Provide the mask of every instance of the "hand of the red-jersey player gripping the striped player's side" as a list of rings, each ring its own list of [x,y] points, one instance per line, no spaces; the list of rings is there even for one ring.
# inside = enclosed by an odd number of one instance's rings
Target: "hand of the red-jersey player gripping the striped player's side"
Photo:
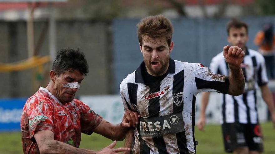
[[[123,127],[135,127],[138,124],[139,117],[140,115],[137,112],[128,110],[124,113],[121,124]]]

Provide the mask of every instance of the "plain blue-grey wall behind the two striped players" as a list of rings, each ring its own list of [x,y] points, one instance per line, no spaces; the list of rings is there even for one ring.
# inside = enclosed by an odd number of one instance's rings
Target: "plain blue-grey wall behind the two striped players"
[[[275,21],[274,16],[243,18],[249,26],[247,46],[257,50],[254,37],[266,20]],[[230,19],[173,19],[172,41],[175,43],[171,57],[186,62],[200,62],[209,66],[212,57],[227,45],[226,25]],[[136,24],[140,19],[116,19],[113,24],[114,40],[114,91],[127,74],[142,62]]]

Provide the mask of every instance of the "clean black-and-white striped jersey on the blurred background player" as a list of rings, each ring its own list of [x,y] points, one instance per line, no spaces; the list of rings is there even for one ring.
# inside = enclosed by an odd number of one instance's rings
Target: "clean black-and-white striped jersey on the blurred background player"
[[[222,95],[221,124],[257,124],[256,89],[267,84],[267,73],[263,56],[252,49],[245,52],[241,64],[245,77],[245,93],[240,96]],[[228,65],[222,52],[212,58],[209,69],[218,74],[228,75]]]

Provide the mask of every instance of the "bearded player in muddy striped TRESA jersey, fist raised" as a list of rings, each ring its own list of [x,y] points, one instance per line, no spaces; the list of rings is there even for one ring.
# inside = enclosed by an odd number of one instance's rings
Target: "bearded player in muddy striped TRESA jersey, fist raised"
[[[170,58],[174,47],[172,34],[171,22],[162,15],[148,16],[138,23],[144,61],[120,84],[125,110],[141,115],[138,125],[128,131],[125,139],[125,146],[132,146],[133,154],[194,154],[196,95],[201,91],[218,91],[237,96],[244,91],[241,48],[223,48],[231,73],[221,76],[201,63]]]

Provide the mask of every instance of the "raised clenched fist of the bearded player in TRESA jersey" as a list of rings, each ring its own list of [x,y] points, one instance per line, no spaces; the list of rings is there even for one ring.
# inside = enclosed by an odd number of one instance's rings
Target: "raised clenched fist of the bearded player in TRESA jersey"
[[[227,45],[223,47],[223,57],[230,68],[240,68],[244,52],[237,46],[229,47],[229,45]]]

